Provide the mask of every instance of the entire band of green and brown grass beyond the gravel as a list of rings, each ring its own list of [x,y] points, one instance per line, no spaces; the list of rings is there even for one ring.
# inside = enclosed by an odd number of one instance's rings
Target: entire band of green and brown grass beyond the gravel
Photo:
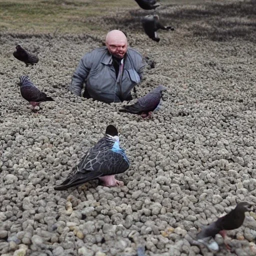
[[[187,35],[255,41],[256,0],[161,0],[163,24]],[[0,0],[0,32],[98,34],[142,32],[142,10],[134,0]]]

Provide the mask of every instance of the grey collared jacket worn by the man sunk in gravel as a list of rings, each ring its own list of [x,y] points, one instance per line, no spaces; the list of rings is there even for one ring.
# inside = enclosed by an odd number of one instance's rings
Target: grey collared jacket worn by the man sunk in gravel
[[[85,81],[85,89],[93,99],[109,103],[129,98],[131,89],[140,82],[144,64],[141,55],[132,48],[125,55],[122,76],[118,79],[112,55],[105,46],[86,53],[73,73],[71,92],[80,96]]]

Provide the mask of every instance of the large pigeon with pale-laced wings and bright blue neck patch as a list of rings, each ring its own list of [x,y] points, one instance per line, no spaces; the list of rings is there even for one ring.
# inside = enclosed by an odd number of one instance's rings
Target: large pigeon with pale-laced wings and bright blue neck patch
[[[123,182],[114,176],[128,167],[129,160],[124,149],[119,146],[117,129],[110,124],[106,127],[104,137],[88,149],[66,179],[54,189],[64,190],[95,178],[99,178],[104,186],[122,186]]]

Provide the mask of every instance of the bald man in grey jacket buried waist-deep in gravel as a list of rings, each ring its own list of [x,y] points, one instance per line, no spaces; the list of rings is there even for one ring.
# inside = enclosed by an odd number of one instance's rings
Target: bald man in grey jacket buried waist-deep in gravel
[[[86,53],[73,73],[70,91],[96,100],[122,102],[131,100],[132,88],[140,82],[143,61],[141,55],[128,47],[120,30],[106,35],[106,46]]]

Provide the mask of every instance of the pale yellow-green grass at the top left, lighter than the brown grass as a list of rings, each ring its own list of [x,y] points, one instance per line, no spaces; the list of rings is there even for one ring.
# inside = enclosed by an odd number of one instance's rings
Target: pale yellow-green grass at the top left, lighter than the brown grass
[[[203,0],[161,0],[162,4]],[[102,17],[140,9],[134,0],[0,0],[0,31],[84,33],[100,31]],[[147,12],[148,14],[148,12]]]

